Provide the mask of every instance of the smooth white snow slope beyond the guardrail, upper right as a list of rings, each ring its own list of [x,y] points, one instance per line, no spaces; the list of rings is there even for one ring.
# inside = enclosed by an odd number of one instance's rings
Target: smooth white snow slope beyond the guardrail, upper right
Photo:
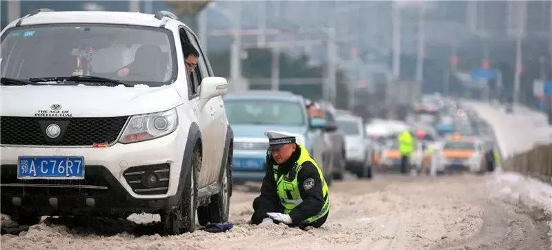
[[[504,158],[525,152],[535,143],[552,143],[552,127],[546,114],[517,105],[513,113],[506,114],[503,107],[487,103],[469,103],[481,118],[495,129],[497,142]]]

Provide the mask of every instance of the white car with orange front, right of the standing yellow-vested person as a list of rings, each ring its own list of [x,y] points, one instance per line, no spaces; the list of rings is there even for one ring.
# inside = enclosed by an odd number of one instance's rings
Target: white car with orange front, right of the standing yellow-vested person
[[[474,137],[455,134],[446,138],[441,149],[437,171],[485,171],[484,145]]]

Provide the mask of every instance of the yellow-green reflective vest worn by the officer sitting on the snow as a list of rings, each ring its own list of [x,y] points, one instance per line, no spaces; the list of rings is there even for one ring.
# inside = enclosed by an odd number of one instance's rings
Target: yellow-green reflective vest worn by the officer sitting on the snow
[[[288,214],[291,210],[295,209],[297,205],[303,202],[301,194],[299,193],[299,184],[297,184],[297,176],[299,175],[299,171],[301,171],[302,164],[306,161],[310,161],[313,165],[315,165],[318,175],[320,176],[320,180],[322,180],[322,196],[324,196],[324,205],[322,206],[322,210],[317,215],[307,218],[299,223],[294,222],[295,224],[309,224],[328,214],[330,211],[330,198],[328,195],[328,185],[326,184],[322,170],[318,167],[316,161],[311,157],[311,155],[308,154],[307,149],[303,145],[299,145],[298,149],[301,150],[301,154],[292,169],[290,169],[288,174],[282,174],[280,178],[278,178],[276,174],[277,169],[274,169],[274,179],[277,184],[280,204],[284,207],[284,213]]]

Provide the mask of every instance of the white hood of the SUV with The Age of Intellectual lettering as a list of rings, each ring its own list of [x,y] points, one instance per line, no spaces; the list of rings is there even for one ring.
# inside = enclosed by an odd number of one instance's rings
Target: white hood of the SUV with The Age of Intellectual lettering
[[[140,86],[140,85],[139,85]],[[172,86],[2,86],[2,116],[112,117],[170,110],[181,103]]]

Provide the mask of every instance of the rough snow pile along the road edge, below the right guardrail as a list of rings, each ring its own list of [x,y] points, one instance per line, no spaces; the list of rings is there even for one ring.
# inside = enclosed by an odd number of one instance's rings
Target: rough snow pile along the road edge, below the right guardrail
[[[549,225],[552,241],[552,185],[515,172],[496,171],[486,183],[492,198],[500,198],[513,205],[542,209]]]

